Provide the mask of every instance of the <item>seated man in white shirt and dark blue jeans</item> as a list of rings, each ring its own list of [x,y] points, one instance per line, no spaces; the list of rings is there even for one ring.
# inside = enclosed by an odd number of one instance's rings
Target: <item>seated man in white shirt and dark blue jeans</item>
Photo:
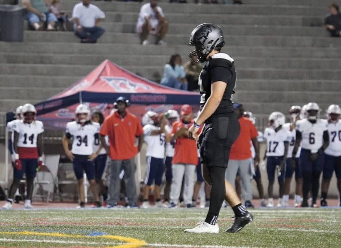
[[[96,43],[105,30],[98,24],[105,18],[105,14],[99,7],[83,0],[73,7],[72,18],[75,22],[75,34],[81,43]]]

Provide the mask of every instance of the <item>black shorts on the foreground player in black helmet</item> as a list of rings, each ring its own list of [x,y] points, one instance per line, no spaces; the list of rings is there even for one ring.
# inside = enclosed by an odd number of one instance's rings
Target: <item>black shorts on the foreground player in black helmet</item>
[[[227,168],[231,146],[239,136],[239,121],[235,114],[211,120],[203,130],[204,137],[200,146],[201,163],[205,163],[207,167]]]

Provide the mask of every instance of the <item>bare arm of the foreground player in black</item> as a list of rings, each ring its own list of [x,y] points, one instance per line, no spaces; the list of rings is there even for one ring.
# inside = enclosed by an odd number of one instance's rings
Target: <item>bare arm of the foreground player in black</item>
[[[214,111],[216,111],[223,98],[226,86],[227,83],[223,81],[217,81],[211,84],[211,95],[207,99],[203,110],[196,119],[196,123],[198,125],[203,124],[214,113]]]

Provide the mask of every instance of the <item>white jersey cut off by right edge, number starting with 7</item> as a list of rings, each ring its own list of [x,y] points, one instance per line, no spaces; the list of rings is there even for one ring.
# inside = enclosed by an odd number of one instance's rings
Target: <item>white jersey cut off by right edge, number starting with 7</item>
[[[337,123],[328,123],[329,146],[325,149],[325,154],[329,156],[341,156],[341,120]]]

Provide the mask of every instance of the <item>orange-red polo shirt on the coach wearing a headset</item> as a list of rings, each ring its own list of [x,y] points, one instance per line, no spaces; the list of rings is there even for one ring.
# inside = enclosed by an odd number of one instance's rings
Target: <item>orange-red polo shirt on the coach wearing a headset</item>
[[[99,133],[109,138],[110,158],[124,160],[138,153],[135,137],[142,135],[143,129],[137,117],[126,110],[124,118],[117,111],[108,116]]]

